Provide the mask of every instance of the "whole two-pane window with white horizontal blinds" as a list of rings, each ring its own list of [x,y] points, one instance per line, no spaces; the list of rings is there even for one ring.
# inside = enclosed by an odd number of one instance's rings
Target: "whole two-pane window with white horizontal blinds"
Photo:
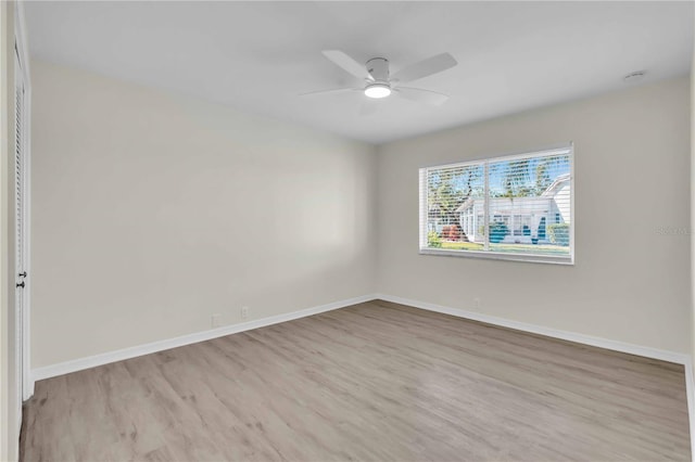
[[[573,262],[571,145],[420,169],[420,253]]]

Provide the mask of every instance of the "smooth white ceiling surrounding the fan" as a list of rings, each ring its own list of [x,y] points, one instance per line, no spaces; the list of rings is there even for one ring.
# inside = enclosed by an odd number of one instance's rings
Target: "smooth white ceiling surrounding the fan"
[[[31,53],[374,143],[685,75],[692,2],[27,2]],[[392,73],[450,52],[412,86],[441,107],[389,98],[361,116],[358,85],[321,50]]]

